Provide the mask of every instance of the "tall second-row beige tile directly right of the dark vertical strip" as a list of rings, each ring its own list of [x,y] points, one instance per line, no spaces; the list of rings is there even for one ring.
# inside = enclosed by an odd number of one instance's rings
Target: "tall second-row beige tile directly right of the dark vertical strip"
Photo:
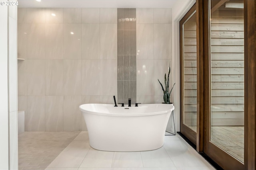
[[[154,59],[154,25],[137,23],[137,59]]]

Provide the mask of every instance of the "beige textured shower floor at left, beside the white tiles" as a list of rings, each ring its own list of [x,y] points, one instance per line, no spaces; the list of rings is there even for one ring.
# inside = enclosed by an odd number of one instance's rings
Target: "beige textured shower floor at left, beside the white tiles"
[[[44,170],[79,133],[80,131],[19,134],[19,170]]]

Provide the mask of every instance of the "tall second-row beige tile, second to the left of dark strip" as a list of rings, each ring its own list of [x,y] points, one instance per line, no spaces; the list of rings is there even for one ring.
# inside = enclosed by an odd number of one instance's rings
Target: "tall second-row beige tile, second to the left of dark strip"
[[[100,24],[82,24],[82,59],[100,58]]]

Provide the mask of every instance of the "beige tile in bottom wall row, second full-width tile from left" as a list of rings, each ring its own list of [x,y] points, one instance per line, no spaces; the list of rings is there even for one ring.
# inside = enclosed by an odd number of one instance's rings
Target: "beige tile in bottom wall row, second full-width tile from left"
[[[63,131],[63,96],[45,97],[46,131]]]

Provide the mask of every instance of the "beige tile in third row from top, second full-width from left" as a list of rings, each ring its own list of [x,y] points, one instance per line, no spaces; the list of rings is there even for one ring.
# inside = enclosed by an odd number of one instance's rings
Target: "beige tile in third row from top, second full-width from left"
[[[63,60],[46,60],[45,94],[63,94]]]

